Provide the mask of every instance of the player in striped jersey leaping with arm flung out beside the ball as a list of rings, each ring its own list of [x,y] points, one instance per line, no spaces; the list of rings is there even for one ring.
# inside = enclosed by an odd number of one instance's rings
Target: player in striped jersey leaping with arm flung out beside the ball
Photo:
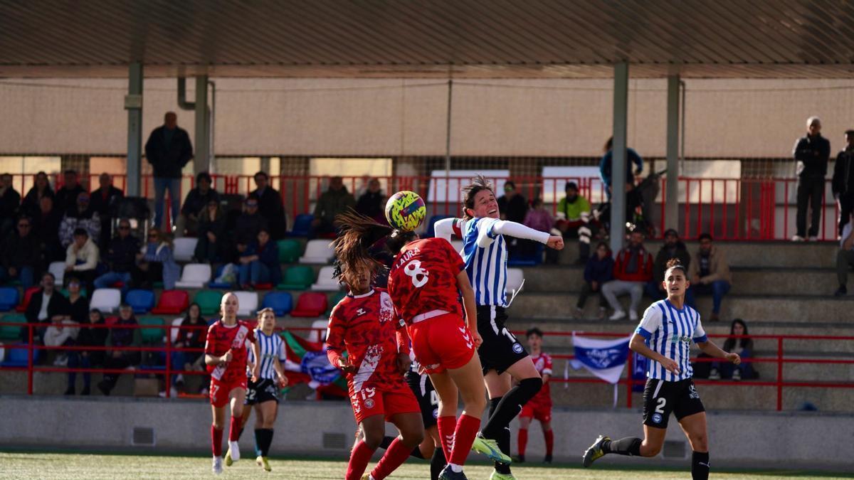
[[[507,244],[504,236],[564,248],[564,238],[535,231],[525,225],[500,220],[492,184],[478,175],[463,189],[463,218],[436,222],[436,237],[463,238],[465,272],[475,290],[478,348],[483,380],[489,394],[489,419],[481,436],[494,439],[503,454],[510,453],[510,422],[542,388],[542,379],[525,348],[504,326],[507,320]],[[512,380],[518,384],[511,388]],[[441,429],[440,429],[441,430]],[[476,444],[476,447],[478,445]],[[478,450],[480,451],[480,450]],[[510,465],[495,462],[494,480],[513,478]]]

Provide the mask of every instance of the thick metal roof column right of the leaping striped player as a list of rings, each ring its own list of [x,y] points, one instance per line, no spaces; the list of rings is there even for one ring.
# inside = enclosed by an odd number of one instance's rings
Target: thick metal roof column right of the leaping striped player
[[[623,248],[626,232],[626,131],[629,116],[629,64],[614,65],[614,143],[611,162],[611,251]]]

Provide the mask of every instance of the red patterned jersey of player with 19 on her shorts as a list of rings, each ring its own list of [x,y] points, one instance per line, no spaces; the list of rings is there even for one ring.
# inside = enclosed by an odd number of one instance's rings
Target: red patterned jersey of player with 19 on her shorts
[[[395,317],[395,307],[389,292],[373,289],[359,295],[345,296],[332,308],[326,331],[326,349],[333,365],[347,350],[355,373],[348,373],[350,395],[361,389],[399,389],[406,386],[403,374],[397,369],[399,339],[406,329]],[[402,336],[402,337],[399,337]],[[408,353],[408,348],[403,351]]]

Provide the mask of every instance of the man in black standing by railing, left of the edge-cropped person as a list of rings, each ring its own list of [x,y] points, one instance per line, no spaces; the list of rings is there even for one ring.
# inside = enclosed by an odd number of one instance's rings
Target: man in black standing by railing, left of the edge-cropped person
[[[807,204],[812,208],[810,241],[818,239],[819,224],[822,222],[822,200],[824,200],[824,177],[828,174],[830,142],[822,137],[822,120],[810,117],[806,120],[806,135],[798,138],[792,155],[796,161],[798,175],[798,214],[795,218],[797,232],[793,242],[803,242],[806,236]]]

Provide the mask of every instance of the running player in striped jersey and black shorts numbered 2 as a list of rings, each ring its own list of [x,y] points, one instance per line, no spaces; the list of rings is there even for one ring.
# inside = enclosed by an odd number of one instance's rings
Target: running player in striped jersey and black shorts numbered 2
[[[685,290],[689,286],[685,267],[679,260],[670,259],[664,272],[667,299],[646,308],[640,325],[629,342],[629,348],[652,360],[646,372],[643,392],[644,438],[626,437],[611,441],[599,436],[584,452],[583,465],[593,464],[605,454],[654,457],[664,445],[670,413],[685,432],[693,450],[691,477],[709,478],[709,444],[705,427],[705,408],[691,379],[691,342],[712,357],[741,363],[738,354],[728,354],[709,342],[699,313],[685,305]]]

